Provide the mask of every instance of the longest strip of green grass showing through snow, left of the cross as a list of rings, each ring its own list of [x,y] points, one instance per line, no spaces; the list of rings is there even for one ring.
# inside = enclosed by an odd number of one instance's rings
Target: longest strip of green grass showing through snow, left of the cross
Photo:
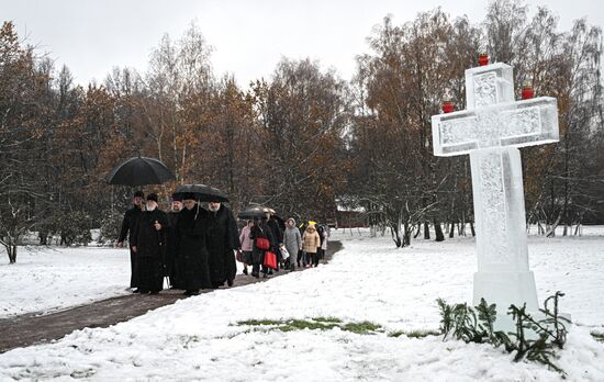
[[[317,317],[311,319],[248,319],[241,321],[237,325],[247,326],[268,326],[266,330],[280,330],[280,332],[293,332],[293,330],[331,330],[333,328],[340,328],[342,330],[351,332],[356,334],[371,334],[380,332],[381,326],[370,323],[343,323],[342,319],[336,317]]]

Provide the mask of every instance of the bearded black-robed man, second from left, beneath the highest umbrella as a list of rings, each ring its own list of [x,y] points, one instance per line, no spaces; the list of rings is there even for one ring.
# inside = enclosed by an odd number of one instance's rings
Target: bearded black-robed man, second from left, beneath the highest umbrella
[[[147,205],[134,228],[131,244],[136,257],[139,293],[159,293],[164,289],[168,215],[157,207],[157,194],[147,195]]]

